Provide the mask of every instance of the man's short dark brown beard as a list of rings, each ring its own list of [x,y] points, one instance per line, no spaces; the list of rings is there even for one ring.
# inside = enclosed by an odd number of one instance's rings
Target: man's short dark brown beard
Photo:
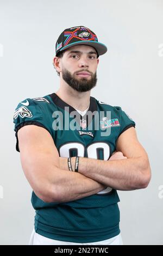
[[[62,70],[62,78],[71,88],[73,88],[74,90],[77,90],[77,92],[83,93],[91,90],[93,87],[96,86],[97,71],[95,72],[95,74],[91,74],[91,78],[85,78],[85,77],[75,78],[74,75],[71,75],[71,73],[64,68]]]

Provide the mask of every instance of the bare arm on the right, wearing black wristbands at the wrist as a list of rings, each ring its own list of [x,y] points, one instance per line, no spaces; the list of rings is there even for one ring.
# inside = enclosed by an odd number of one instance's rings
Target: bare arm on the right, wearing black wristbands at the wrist
[[[137,140],[134,127],[121,134],[116,142],[116,150],[126,159],[103,161],[80,157],[78,172],[117,190],[145,188],[151,179],[151,168],[147,153]],[[76,157],[72,157],[74,169]],[[68,170],[67,159],[60,157],[60,166]]]

